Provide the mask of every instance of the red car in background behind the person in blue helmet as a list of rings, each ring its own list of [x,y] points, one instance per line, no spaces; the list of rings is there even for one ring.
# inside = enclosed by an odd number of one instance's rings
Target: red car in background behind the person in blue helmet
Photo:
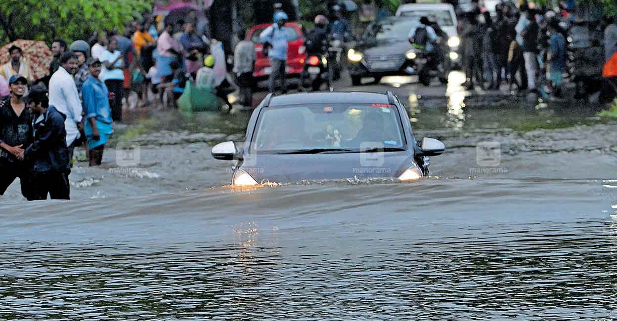
[[[251,41],[255,44],[255,53],[257,54],[257,59],[255,60],[255,71],[253,72],[253,76],[255,78],[267,78],[270,76],[272,71],[272,68],[270,67],[270,60],[262,54],[263,45],[259,39],[259,35],[261,35],[262,31],[271,25],[271,23],[266,23],[263,25],[253,26],[246,35],[246,39],[251,39]],[[299,76],[304,69],[304,60],[307,58],[302,29],[298,23],[288,22],[283,26],[283,30],[289,33],[289,39],[292,39],[289,41],[287,47],[287,75]]]

